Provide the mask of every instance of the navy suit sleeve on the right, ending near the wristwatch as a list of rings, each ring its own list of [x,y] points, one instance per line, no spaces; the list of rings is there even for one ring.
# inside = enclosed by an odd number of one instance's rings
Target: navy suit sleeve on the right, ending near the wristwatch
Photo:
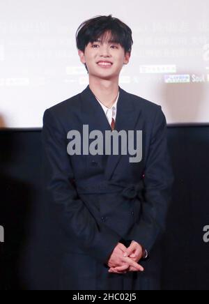
[[[150,252],[164,232],[174,181],[167,148],[167,121],[160,106],[155,114],[144,174],[141,217],[130,231],[129,238]]]

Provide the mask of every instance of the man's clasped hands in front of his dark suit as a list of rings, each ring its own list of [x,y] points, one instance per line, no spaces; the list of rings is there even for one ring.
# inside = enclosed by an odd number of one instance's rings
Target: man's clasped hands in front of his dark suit
[[[143,249],[137,242],[132,242],[128,248],[118,243],[109,258],[107,265],[109,273],[127,273],[127,271],[144,271],[138,264],[143,256]]]

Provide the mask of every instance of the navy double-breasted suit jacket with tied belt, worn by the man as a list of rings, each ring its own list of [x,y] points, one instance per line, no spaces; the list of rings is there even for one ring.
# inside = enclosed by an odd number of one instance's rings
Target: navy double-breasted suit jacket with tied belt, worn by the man
[[[65,235],[62,289],[158,288],[157,244],[173,185],[167,121],[159,105],[119,90],[115,130],[142,131],[140,162],[130,162],[129,153],[69,155],[70,130],[82,136],[84,125],[103,135],[111,130],[89,86],[43,116],[45,190]],[[131,240],[149,252],[142,262],[144,273],[108,273],[107,261],[117,243]]]

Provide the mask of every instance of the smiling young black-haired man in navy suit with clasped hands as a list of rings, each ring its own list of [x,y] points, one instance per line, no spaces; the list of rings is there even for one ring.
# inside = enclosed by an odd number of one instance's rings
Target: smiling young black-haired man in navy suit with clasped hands
[[[133,43],[126,24],[111,15],[94,17],[79,26],[76,38],[89,85],[47,109],[42,129],[47,191],[66,240],[61,289],[159,289],[160,240],[173,183],[167,121],[159,105],[118,86]],[[88,139],[84,127],[92,132]],[[130,161],[130,149],[107,153],[107,131],[114,141],[116,132],[124,139],[124,132],[139,130],[140,161]],[[102,153],[89,153],[97,131]]]

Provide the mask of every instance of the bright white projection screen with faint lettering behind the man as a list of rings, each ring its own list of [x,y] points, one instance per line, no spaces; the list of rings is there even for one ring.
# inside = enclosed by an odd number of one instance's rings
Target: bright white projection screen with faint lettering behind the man
[[[162,105],[167,123],[209,123],[208,0],[0,3],[0,127],[41,128],[45,109],[88,84],[78,26],[113,15],[133,32],[120,86]]]

